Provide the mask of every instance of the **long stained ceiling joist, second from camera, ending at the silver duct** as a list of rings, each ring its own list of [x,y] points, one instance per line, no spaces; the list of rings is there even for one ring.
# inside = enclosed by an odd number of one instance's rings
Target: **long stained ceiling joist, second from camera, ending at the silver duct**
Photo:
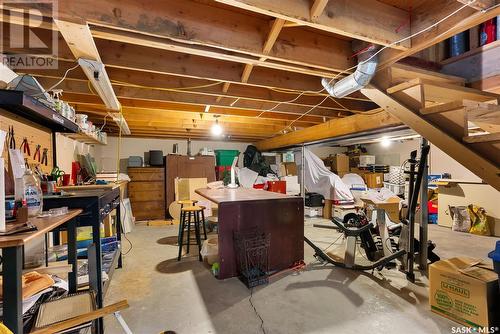
[[[126,33],[140,33],[136,41],[148,40],[149,35],[160,37],[167,44],[216,48],[254,59],[265,56],[303,67],[343,70],[350,67],[344,66],[346,62],[352,61],[348,59],[349,41],[306,30],[280,36],[277,47],[265,55],[262,32],[268,18],[199,1],[59,0],[58,11],[61,20],[122,30],[125,33],[115,38],[127,43],[130,41],[126,40]]]

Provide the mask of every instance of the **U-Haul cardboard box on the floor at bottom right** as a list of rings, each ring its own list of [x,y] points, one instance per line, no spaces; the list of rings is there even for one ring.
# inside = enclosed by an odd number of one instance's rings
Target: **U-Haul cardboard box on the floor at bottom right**
[[[498,275],[488,267],[491,264],[468,257],[433,263],[429,267],[432,312],[467,327],[498,326]]]

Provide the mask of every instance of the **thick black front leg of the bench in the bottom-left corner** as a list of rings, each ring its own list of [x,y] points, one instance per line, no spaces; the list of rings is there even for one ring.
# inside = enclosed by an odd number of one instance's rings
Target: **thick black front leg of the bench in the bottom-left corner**
[[[7,247],[3,258],[3,320],[13,333],[23,332],[23,310],[21,293],[22,247]]]

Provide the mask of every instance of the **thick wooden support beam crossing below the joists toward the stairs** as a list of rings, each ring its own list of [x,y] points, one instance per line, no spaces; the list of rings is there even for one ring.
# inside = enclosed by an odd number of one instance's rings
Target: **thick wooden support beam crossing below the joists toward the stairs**
[[[262,140],[257,142],[256,146],[261,151],[269,151],[399,124],[401,122],[397,118],[382,110],[372,115],[354,115],[331,120],[303,130]]]

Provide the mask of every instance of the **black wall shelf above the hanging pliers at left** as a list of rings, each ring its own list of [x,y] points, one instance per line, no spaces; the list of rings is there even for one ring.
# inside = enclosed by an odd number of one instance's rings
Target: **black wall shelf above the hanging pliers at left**
[[[19,90],[0,89],[0,107],[55,132],[78,132],[78,125]]]

